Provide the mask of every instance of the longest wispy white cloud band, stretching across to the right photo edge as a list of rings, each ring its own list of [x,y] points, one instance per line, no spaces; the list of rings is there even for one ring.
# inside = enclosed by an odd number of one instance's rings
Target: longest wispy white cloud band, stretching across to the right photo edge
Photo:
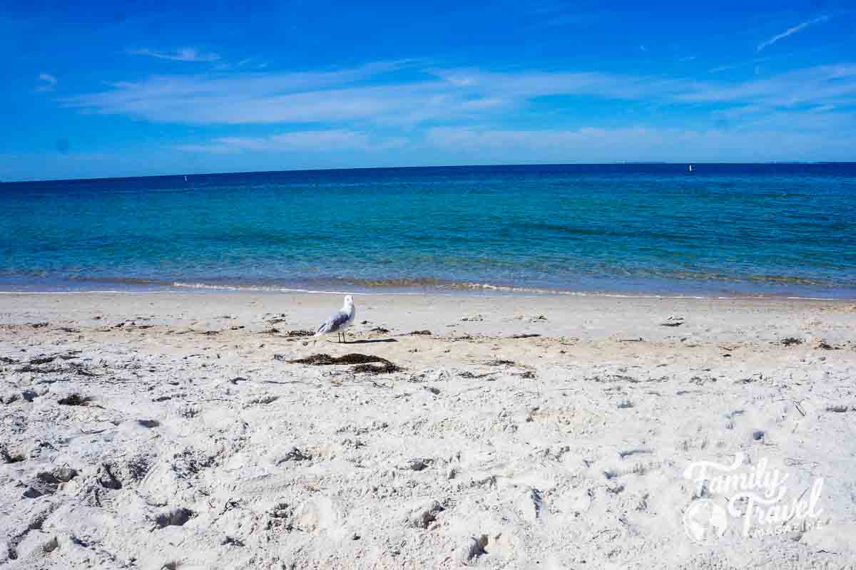
[[[376,62],[357,68],[156,75],[62,103],[86,113],[189,125],[303,124],[326,129],[503,120],[539,97],[782,109],[856,106],[856,63],[796,69],[746,81],[571,71],[496,72]],[[554,109],[573,113],[571,107]],[[235,146],[234,144],[232,145]]]

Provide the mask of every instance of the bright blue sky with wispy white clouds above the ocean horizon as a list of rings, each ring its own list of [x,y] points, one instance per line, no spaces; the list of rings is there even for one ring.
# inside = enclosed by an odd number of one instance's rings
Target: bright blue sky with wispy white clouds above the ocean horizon
[[[826,2],[0,0],[0,179],[854,161],[854,16]]]

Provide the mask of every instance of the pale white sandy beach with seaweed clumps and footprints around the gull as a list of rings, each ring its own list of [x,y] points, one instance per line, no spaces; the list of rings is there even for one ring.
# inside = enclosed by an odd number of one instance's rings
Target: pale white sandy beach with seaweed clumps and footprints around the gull
[[[354,298],[0,295],[0,567],[856,563],[853,301]]]

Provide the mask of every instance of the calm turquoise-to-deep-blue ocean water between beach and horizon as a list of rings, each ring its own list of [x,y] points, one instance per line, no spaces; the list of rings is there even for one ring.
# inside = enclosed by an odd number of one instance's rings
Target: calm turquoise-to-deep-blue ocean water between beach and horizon
[[[0,184],[0,291],[856,297],[856,164]]]

